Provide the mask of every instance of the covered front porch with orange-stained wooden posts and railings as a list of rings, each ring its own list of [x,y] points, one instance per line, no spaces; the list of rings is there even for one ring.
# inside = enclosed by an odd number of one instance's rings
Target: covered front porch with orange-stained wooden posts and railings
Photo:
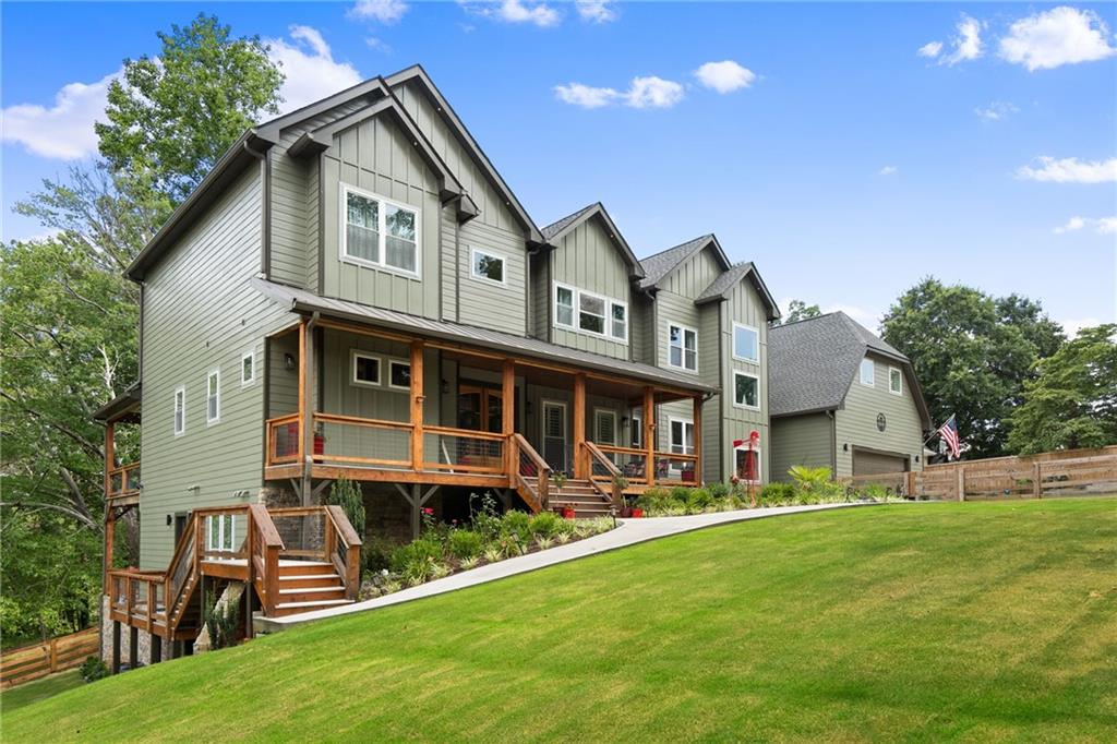
[[[627,361],[610,372],[605,357],[594,368],[529,351],[304,316],[269,340],[265,479],[306,504],[344,476],[394,484],[416,508],[433,488],[466,486],[515,492],[533,511],[567,479],[614,505],[698,484],[708,390]],[[658,411],[677,401],[693,426],[661,432]]]

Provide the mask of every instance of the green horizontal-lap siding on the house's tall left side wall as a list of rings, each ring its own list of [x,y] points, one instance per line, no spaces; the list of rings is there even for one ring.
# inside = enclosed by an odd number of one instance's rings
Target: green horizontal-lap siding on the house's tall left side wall
[[[174,527],[168,516],[244,504],[261,486],[262,338],[292,317],[249,285],[260,266],[260,169],[247,169],[145,278],[144,569],[162,569],[171,560]],[[256,382],[242,387],[247,351],[254,354]],[[220,419],[207,425],[207,378],[214,368],[220,369]],[[185,431],[175,436],[179,387],[185,388]]]

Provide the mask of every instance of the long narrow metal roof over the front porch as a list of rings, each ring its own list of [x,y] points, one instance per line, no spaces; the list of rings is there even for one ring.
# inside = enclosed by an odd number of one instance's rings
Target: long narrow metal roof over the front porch
[[[517,336],[512,333],[481,328],[464,323],[436,321],[384,307],[373,307],[363,303],[322,297],[306,289],[289,287],[267,279],[252,278],[251,284],[264,295],[297,313],[317,312],[328,317],[373,323],[384,328],[404,331],[431,338],[486,349],[497,349],[540,360],[584,366],[598,372],[659,382],[663,385],[690,392],[717,392],[717,388],[699,382],[693,374],[665,370],[651,364],[614,359],[569,346],[558,346],[557,344],[547,343],[546,341],[531,336]]]

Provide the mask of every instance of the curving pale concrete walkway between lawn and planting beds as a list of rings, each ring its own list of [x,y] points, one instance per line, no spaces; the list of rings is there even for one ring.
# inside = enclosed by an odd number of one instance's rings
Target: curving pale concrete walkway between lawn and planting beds
[[[515,576],[529,571],[537,571],[556,563],[575,561],[581,557],[614,551],[618,547],[636,545],[649,540],[658,540],[669,535],[677,535],[684,532],[693,532],[705,527],[714,527],[732,522],[745,522],[747,519],[761,519],[764,517],[782,516],[785,514],[802,514],[803,512],[822,512],[827,509],[849,508],[852,506],[869,506],[871,504],[818,504],[813,506],[773,506],[758,509],[738,509],[735,512],[718,512],[716,514],[695,514],[693,516],[677,517],[655,517],[649,519],[618,519],[617,528],[593,537],[579,540],[565,545],[550,547],[537,553],[528,553],[514,559],[506,559],[497,563],[488,563],[478,569],[462,571],[445,579],[436,579],[418,586],[403,589],[391,594],[378,597],[364,602],[355,602],[342,607],[316,610],[314,612],[303,612],[300,614],[284,618],[255,618],[255,626],[259,632],[277,632],[293,628],[304,622],[313,622],[325,618],[336,618],[342,614],[353,612],[367,612],[382,607],[411,602],[424,597],[435,597],[446,592],[466,589],[485,584],[498,579]]]

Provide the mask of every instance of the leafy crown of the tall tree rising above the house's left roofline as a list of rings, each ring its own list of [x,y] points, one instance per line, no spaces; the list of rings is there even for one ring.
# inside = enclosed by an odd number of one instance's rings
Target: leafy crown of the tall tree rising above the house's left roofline
[[[284,77],[259,37],[233,38],[213,16],[159,39],[157,59],[124,61],[108,88],[108,123],[96,131],[114,171],[150,174],[179,202],[261,114],[278,112]]]

